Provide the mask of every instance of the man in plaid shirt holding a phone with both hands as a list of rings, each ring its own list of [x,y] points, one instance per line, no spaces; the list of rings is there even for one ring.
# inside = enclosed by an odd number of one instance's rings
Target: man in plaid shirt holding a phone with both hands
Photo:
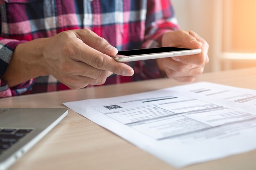
[[[207,42],[178,30],[169,0],[0,1],[0,97],[166,75],[190,82],[209,61]],[[202,53],[127,64],[110,57],[157,46]]]

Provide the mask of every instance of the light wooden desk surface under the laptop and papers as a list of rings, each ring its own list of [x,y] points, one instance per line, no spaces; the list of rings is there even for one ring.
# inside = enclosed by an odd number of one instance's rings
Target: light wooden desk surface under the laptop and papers
[[[256,68],[204,73],[195,82],[208,81],[256,89]],[[181,85],[155,79],[0,99],[0,107],[65,107],[64,102],[115,97]],[[256,150],[200,163],[182,170],[255,170]],[[175,168],[69,110],[69,114],[9,170],[174,170]]]

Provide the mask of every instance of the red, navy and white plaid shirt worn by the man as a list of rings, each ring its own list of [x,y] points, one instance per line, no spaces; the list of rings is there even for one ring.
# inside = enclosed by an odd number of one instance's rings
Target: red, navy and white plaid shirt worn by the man
[[[161,46],[162,35],[178,29],[170,0],[0,0],[0,15],[0,97],[68,89],[51,75],[9,88],[1,76],[20,43],[85,28],[128,50]],[[161,77],[155,60],[128,64],[132,77],[113,74],[105,84]]]

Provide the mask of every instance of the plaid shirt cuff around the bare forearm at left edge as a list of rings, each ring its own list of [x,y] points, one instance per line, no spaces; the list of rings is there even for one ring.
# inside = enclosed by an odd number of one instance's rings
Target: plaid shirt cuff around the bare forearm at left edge
[[[30,79],[27,82],[23,82],[22,84],[9,88],[8,84],[2,80],[2,75],[4,75],[7,70],[13,55],[13,51],[18,44],[24,42],[27,41],[0,38],[0,98],[11,97],[25,93],[31,88],[34,82],[33,79]]]

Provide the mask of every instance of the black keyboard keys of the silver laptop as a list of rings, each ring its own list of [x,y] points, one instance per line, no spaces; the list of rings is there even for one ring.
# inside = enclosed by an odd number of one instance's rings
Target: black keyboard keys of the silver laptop
[[[0,155],[33,129],[0,128]]]

